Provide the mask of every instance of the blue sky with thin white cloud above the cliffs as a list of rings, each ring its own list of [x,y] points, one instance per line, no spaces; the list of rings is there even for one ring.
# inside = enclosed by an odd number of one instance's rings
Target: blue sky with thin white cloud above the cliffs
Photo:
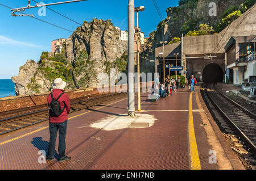
[[[37,2],[42,0],[35,0]],[[44,3],[64,2],[67,0],[44,0]],[[0,0],[0,3],[11,8],[26,7],[27,0]],[[166,9],[177,6],[178,0],[155,0],[158,8],[166,18]],[[31,0],[31,5],[35,2]],[[84,20],[90,22],[93,18],[111,19],[114,26],[127,30],[128,0],[88,0],[63,5],[48,6],[49,8],[82,24]],[[145,6],[139,12],[139,27],[145,37],[156,30],[161,21],[151,0],[134,0],[135,7]],[[56,24],[69,31],[75,31],[80,25],[46,9],[46,16],[39,16],[40,8],[27,9],[26,14],[34,14],[35,18]],[[136,17],[136,16],[135,16]],[[136,24],[136,20],[135,20]],[[19,67],[27,60],[40,60],[44,51],[51,52],[51,41],[68,38],[72,32],[40,22],[26,16],[11,16],[11,10],[0,5],[0,79],[10,79],[19,73]]]

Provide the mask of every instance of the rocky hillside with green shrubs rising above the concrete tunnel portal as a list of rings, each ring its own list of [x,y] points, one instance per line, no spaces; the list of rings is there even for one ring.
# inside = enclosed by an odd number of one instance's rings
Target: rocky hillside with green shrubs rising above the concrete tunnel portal
[[[147,49],[143,54],[147,54],[148,58],[155,57],[154,50],[159,47],[159,41],[171,41],[171,37],[167,30],[170,31],[172,37],[181,37],[181,33],[196,30],[200,24],[207,23],[213,26],[215,30],[220,16],[225,10],[232,6],[240,6],[245,0],[187,0],[181,1],[177,7],[169,7],[167,18],[160,22],[157,30],[150,34],[147,43]],[[216,4],[217,15],[210,16],[209,10],[213,7],[210,3]]]

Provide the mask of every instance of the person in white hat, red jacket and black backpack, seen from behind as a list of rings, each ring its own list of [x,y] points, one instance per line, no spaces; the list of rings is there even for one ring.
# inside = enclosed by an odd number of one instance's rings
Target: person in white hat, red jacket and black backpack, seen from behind
[[[52,87],[53,92],[48,95],[47,101],[49,106],[49,147],[48,155],[46,159],[48,161],[54,161],[55,153],[55,142],[57,137],[57,132],[59,130],[59,162],[64,162],[71,157],[65,155],[65,137],[67,133],[68,124],[68,113],[70,111],[70,101],[68,95],[64,92],[66,82],[61,78],[55,79]]]

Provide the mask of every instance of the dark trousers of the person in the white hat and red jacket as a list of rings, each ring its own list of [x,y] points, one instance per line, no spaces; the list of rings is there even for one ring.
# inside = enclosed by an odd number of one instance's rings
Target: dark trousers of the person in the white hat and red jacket
[[[55,142],[57,137],[57,132],[59,130],[59,155],[60,159],[63,159],[66,150],[65,138],[67,133],[67,125],[68,120],[65,120],[62,123],[49,123],[49,132],[50,132],[50,140],[49,140],[49,148],[48,148],[48,157],[53,158],[55,153]]]

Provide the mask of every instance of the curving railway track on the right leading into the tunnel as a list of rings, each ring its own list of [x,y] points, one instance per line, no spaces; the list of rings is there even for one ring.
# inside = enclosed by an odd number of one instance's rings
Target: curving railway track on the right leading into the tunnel
[[[246,169],[256,166],[256,115],[218,91],[214,84],[201,90],[209,111]]]

